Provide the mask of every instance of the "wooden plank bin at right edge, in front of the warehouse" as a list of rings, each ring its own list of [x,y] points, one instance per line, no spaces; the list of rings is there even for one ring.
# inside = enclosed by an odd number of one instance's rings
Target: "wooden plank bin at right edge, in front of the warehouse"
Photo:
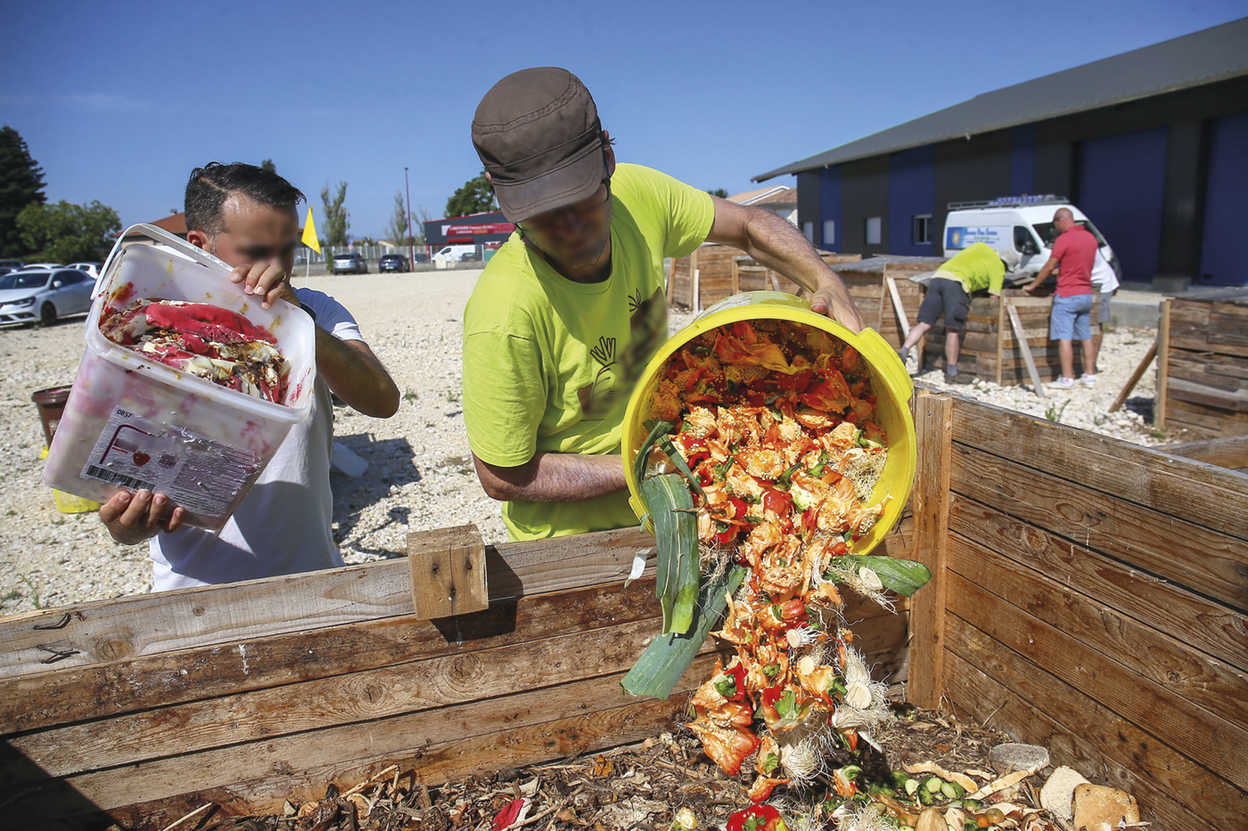
[[[1163,301],[1158,351],[1158,427],[1248,435],[1248,288]]]

